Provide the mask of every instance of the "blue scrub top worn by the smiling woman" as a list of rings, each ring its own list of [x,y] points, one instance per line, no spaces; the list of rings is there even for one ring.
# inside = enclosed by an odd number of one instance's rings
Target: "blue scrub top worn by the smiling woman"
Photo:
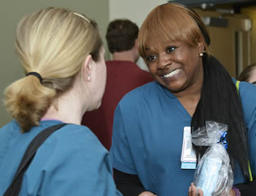
[[[256,87],[240,82],[249,134],[249,155],[256,174]],[[158,82],[129,92],[115,110],[110,154],[113,167],[139,176],[145,189],[160,195],[187,195],[195,170],[181,169],[184,127],[191,116],[176,96]],[[235,183],[244,182],[240,167]]]

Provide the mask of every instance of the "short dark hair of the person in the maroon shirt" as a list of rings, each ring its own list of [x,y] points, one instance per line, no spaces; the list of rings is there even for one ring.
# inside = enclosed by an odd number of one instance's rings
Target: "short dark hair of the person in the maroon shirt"
[[[107,28],[106,41],[111,53],[128,51],[134,46],[139,29],[131,20],[113,20]]]

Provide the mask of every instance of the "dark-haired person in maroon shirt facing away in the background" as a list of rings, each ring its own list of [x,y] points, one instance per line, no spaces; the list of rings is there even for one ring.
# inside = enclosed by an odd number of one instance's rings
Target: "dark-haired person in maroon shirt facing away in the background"
[[[108,25],[106,41],[113,60],[106,61],[106,91],[101,107],[83,116],[82,124],[91,128],[106,149],[110,149],[115,107],[119,100],[128,91],[153,80],[150,73],[136,65],[138,31],[131,20],[113,20]]]

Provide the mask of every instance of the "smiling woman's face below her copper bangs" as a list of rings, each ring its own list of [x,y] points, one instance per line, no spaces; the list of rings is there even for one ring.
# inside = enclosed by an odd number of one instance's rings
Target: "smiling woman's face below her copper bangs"
[[[143,57],[152,76],[178,96],[185,88],[202,84],[204,70],[199,54],[204,51],[204,45],[202,42],[197,47],[184,42],[169,44],[172,46],[159,46],[155,51],[148,47]]]

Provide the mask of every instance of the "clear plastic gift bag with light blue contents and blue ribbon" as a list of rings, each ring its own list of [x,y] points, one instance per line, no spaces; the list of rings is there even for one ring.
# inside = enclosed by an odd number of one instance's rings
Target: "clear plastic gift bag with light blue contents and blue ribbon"
[[[227,196],[234,181],[230,159],[222,144],[227,125],[213,121],[205,124],[191,135],[195,145],[210,146],[196,167],[193,182],[197,189],[203,190],[204,196]]]

